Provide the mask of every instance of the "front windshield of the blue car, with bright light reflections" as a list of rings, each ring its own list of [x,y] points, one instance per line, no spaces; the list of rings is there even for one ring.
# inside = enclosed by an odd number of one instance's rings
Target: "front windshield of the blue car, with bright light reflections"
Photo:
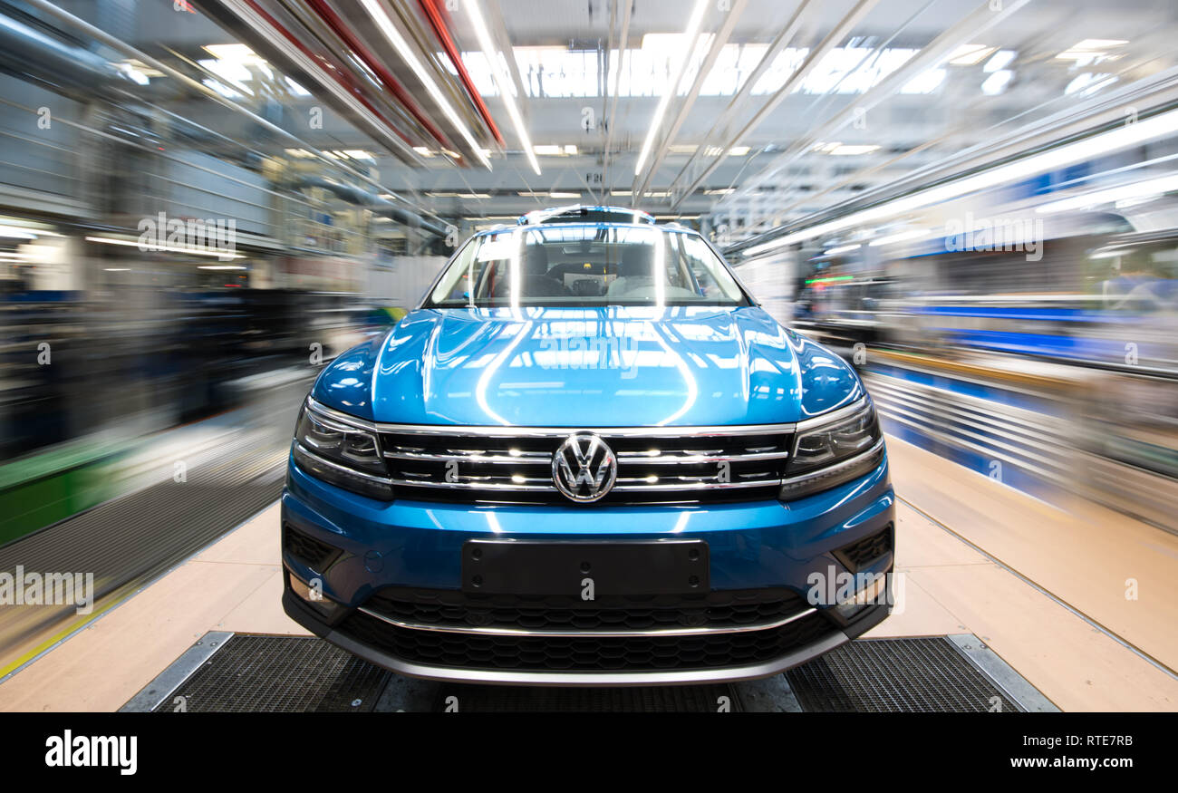
[[[749,305],[720,257],[686,230],[516,226],[472,238],[426,308]]]

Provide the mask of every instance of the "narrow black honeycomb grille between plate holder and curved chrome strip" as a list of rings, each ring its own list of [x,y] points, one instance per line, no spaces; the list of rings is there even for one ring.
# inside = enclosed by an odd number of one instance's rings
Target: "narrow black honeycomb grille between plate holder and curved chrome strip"
[[[457,589],[382,589],[364,608],[398,622],[521,630],[730,628],[794,616],[808,608],[793,589],[716,590],[694,596],[614,597],[475,595]]]

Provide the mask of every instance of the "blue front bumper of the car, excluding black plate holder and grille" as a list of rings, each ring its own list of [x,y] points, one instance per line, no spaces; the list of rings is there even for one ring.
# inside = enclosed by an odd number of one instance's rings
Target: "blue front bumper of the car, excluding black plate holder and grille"
[[[871,604],[848,620],[829,606],[807,608],[802,603],[805,614],[800,610],[786,620],[790,625],[772,629],[777,633],[719,628],[688,630],[684,633],[694,635],[683,636],[636,632],[633,639],[585,634],[600,636],[590,640],[545,630],[496,636],[476,628],[466,632],[451,627],[448,633],[438,634],[436,628],[424,625],[396,625],[369,608],[373,596],[399,588],[459,590],[463,543],[490,537],[702,538],[710,549],[713,593],[775,588],[796,596],[813,588],[814,575],[845,573],[887,574],[891,593],[891,546],[863,567],[855,567],[840,553],[894,527],[894,495],[886,460],[861,480],[789,504],[607,508],[377,502],[319,482],[291,462],[282,510],[284,537],[293,529],[304,538],[335,549],[330,559],[311,564],[304,559],[305,550],[292,549],[284,541],[286,613],[316,635],[359,657],[417,678],[529,686],[749,680],[822,655],[874,627],[889,612],[887,603]],[[302,582],[304,592],[313,581],[322,592],[322,603],[299,596],[291,589],[292,580]],[[537,650],[536,642],[552,646],[557,662],[549,665],[550,655]],[[637,654],[631,653],[635,642],[641,645]],[[736,649],[726,654],[728,645]],[[688,652],[676,655],[680,646]],[[517,647],[522,649],[517,652]],[[649,660],[647,649],[662,660]],[[507,662],[504,652],[510,655]],[[598,653],[611,663],[584,668],[585,653]],[[669,655],[675,657],[667,660]],[[693,666],[691,659],[704,656],[707,662]],[[640,657],[642,662],[630,665],[620,662],[620,657]],[[497,660],[482,663],[479,659]]]

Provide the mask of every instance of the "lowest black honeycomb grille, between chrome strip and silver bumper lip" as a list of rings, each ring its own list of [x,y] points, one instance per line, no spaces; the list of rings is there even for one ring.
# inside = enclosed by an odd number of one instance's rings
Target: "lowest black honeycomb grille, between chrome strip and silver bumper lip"
[[[694,636],[495,636],[399,628],[355,612],[337,630],[415,663],[470,669],[609,672],[763,663],[830,634],[821,614],[776,628]]]

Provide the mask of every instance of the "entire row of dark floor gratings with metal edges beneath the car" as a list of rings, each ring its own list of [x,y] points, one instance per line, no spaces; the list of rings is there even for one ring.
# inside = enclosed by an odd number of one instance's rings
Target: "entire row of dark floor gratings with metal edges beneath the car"
[[[230,713],[1055,709],[969,634],[861,639],[760,681],[565,688],[423,681],[386,672],[313,636],[210,633],[123,709],[166,712],[180,706],[190,712]]]

